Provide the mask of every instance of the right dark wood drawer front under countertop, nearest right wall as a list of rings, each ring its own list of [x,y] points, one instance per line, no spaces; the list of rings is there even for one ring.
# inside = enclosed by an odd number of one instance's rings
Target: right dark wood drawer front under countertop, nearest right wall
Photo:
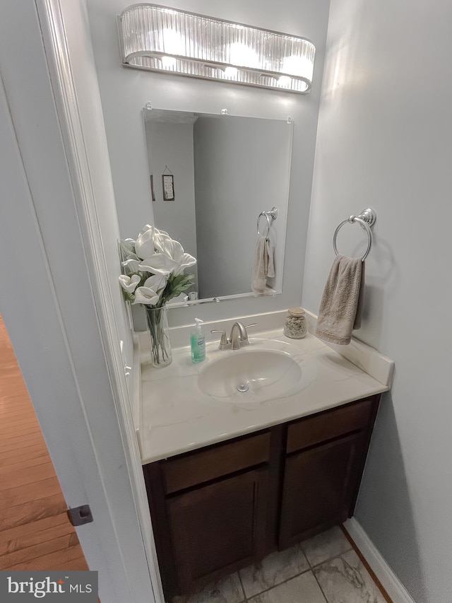
[[[367,398],[292,423],[287,430],[286,452],[301,450],[337,438],[339,435],[366,428],[371,420],[373,406],[374,398]]]

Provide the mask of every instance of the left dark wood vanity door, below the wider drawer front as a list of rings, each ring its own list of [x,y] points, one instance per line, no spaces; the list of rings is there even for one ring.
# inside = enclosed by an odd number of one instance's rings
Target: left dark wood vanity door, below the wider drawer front
[[[267,499],[266,468],[167,499],[180,592],[263,558]]]

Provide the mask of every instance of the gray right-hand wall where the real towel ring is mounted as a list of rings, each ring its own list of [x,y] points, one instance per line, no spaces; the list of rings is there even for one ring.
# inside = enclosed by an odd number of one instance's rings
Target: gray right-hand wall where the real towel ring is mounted
[[[451,602],[451,23],[443,0],[332,0],[303,296],[316,312],[335,227],[374,207],[357,334],[396,377],[356,516],[417,603]]]

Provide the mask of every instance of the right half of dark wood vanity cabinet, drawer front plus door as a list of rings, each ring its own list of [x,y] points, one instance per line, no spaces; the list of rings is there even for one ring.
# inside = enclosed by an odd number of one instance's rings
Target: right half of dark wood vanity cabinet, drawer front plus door
[[[352,515],[379,396],[287,426],[278,548]]]

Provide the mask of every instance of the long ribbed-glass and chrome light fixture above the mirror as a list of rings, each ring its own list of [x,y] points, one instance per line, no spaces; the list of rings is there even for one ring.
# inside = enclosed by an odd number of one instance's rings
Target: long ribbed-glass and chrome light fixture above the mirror
[[[307,93],[316,48],[303,37],[134,4],[118,17],[122,64],[136,69]]]

